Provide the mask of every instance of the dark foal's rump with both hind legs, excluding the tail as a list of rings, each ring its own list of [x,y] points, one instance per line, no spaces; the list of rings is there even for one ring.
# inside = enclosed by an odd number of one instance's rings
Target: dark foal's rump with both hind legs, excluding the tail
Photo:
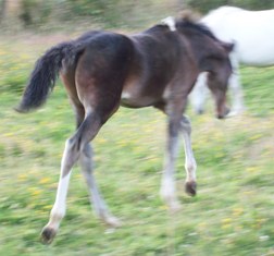
[[[77,131],[65,143],[55,203],[49,223],[42,231],[45,242],[53,239],[65,215],[71,169],[77,160],[86,179],[96,214],[110,225],[120,224],[119,220],[109,214],[97,187],[92,174],[92,149],[89,142],[120,106],[130,57],[132,45],[126,37],[103,34],[92,37],[76,66],[64,69],[61,73],[75,110]]]

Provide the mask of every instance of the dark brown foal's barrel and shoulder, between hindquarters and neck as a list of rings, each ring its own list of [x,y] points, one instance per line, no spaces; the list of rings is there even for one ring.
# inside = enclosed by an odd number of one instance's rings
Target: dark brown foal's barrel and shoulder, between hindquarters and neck
[[[157,106],[164,101],[164,92],[173,80],[185,73],[184,63],[190,68],[189,49],[183,38],[162,25],[129,38],[134,59],[124,85],[122,105]]]

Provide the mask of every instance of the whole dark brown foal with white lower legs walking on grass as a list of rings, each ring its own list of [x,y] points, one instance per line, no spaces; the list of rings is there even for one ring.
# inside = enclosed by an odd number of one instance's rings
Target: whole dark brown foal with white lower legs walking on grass
[[[167,115],[161,196],[172,209],[179,207],[174,181],[179,133],[185,141],[186,191],[196,194],[191,126],[183,115],[187,96],[198,74],[209,72],[216,115],[223,118],[226,114],[231,50],[232,45],[217,40],[207,27],[177,20],[134,36],[90,32],[51,48],[37,61],[17,110],[25,112],[41,106],[60,73],[77,121],[76,133],[65,144],[55,203],[49,223],[42,230],[45,242],[52,241],[65,215],[71,170],[76,161],[86,178],[96,214],[105,223],[119,225],[96,185],[89,142],[120,105],[129,108],[152,106]]]

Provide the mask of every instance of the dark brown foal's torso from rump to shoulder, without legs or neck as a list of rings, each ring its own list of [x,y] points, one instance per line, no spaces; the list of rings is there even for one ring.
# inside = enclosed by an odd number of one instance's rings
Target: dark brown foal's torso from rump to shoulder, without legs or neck
[[[121,96],[126,107],[159,106],[170,84],[194,65],[185,37],[164,25],[134,36],[91,32],[78,42],[85,50],[76,68],[77,94],[84,105],[95,102],[91,108],[120,102]]]

